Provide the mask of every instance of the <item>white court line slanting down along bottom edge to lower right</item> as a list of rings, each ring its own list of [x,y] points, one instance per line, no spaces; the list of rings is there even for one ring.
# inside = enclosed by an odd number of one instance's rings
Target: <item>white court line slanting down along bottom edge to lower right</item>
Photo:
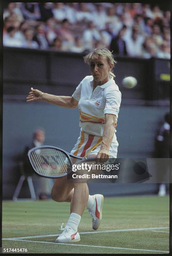
[[[14,240],[14,239],[13,239],[13,240]],[[50,243],[50,244],[56,244],[56,245],[58,245],[58,246],[59,246],[59,245],[69,245],[69,246],[84,246],[84,247],[120,249],[120,250],[130,250],[130,251],[152,251],[152,252],[169,253],[169,251],[157,251],[157,250],[136,249],[136,248],[121,248],[121,247],[110,247],[110,246],[93,246],[93,245],[73,244],[73,243],[53,243],[53,242],[32,241],[32,240],[23,240],[23,239],[16,239],[15,241],[23,241],[23,242],[30,242],[30,243]]]

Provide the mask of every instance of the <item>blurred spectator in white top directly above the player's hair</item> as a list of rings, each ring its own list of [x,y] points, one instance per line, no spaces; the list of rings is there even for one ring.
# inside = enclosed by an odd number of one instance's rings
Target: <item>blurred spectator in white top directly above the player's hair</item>
[[[101,40],[99,31],[96,29],[93,22],[89,22],[87,29],[83,32],[83,44],[85,49],[93,49],[95,42],[99,40]]]

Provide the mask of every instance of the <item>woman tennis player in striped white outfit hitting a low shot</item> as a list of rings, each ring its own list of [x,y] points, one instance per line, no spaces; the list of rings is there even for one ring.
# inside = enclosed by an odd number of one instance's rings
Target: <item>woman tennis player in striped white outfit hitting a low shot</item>
[[[84,56],[84,61],[89,64],[91,75],[83,78],[71,97],[31,88],[27,102],[41,100],[64,108],[78,107],[81,132],[71,154],[96,157],[97,161],[116,158],[119,144],[115,132],[121,104],[121,92],[112,72],[116,61],[106,47],[94,49]],[[71,214],[57,243],[80,241],[78,225],[85,207],[92,217],[93,229],[99,228],[104,197],[89,195],[86,183],[68,183],[67,176],[58,178],[51,195],[56,202],[71,202]]]

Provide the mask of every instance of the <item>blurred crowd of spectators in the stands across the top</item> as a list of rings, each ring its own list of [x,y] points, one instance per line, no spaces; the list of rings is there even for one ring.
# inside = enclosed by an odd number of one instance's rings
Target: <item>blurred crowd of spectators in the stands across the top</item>
[[[9,3],[3,45],[170,59],[170,11],[144,3]]]

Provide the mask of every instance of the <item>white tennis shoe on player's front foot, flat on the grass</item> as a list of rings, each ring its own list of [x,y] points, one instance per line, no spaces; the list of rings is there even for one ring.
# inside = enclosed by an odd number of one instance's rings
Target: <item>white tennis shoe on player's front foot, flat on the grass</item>
[[[78,231],[74,231],[70,227],[64,228],[63,232],[56,239],[56,243],[73,243],[80,241]]]

